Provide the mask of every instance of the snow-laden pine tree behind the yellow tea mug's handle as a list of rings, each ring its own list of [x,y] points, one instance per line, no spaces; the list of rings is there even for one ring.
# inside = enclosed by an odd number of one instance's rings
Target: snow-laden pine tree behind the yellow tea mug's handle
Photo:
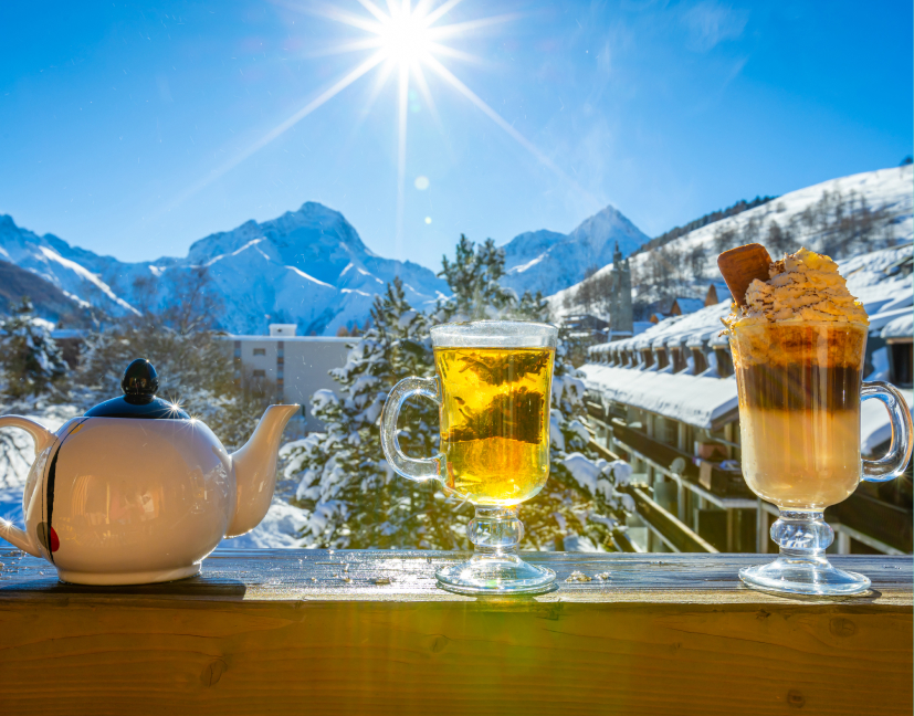
[[[286,475],[300,475],[296,504],[309,512],[306,545],[337,548],[438,548],[465,544],[458,506],[435,483],[416,484],[387,465],[379,420],[388,391],[407,376],[434,371],[430,322],[406,299],[395,278],[371,308],[371,326],[330,371],[339,396],[321,390],[312,412],[325,425],[287,451]],[[400,444],[413,455],[438,452],[433,403],[416,401],[400,414]]]

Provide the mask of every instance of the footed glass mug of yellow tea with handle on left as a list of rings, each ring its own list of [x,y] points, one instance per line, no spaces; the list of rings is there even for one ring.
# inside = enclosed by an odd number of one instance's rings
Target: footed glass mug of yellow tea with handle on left
[[[537,593],[555,572],[523,561],[524,526],[517,505],[549,477],[549,404],[558,331],[511,320],[444,324],[431,329],[434,378],[405,378],[388,396],[381,445],[403,477],[435,480],[470,501],[466,534],[475,554],[438,571],[442,587],[461,593]],[[440,406],[441,452],[407,457],[397,444],[397,419],[413,396]]]

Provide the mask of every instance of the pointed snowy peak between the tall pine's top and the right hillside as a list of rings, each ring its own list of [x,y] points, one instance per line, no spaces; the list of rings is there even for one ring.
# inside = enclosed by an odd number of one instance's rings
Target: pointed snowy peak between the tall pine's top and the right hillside
[[[503,282],[519,294],[543,292],[544,296],[581,280],[588,268],[612,261],[616,243],[622,255],[650,239],[614,207],[607,207],[581,222],[569,234],[528,231],[505,244],[506,276]]]

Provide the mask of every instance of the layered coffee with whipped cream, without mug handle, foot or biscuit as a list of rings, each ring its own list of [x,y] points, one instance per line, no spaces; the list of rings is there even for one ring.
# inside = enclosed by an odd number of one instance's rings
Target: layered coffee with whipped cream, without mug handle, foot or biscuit
[[[743,473],[753,492],[781,509],[820,512],[860,481],[866,314],[828,256],[800,250],[769,273],[725,322]]]

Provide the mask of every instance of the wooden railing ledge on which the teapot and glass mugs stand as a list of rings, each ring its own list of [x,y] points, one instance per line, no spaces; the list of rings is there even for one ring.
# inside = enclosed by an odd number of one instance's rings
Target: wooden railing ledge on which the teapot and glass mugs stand
[[[456,558],[220,551],[198,578],[99,588],[0,551],[0,708],[912,712],[910,557],[836,557],[874,587],[841,600],[745,589],[736,571],[759,556],[570,554],[528,556],[558,573],[551,593],[475,599],[434,587]],[[566,582],[572,571],[591,581]]]

